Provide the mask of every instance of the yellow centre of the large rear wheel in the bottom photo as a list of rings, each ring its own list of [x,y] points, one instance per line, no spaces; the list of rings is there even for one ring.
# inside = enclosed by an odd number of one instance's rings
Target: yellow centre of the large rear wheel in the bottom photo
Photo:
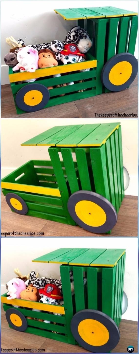
[[[108,329],[99,321],[86,319],[79,323],[80,337],[91,346],[103,346],[109,340]]]

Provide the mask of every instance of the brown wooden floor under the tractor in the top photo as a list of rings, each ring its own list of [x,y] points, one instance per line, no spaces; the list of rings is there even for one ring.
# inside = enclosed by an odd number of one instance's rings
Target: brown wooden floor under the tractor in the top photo
[[[45,108],[34,113],[18,115],[16,113],[10,84],[2,85],[1,118],[97,118],[95,113],[138,114],[137,95],[138,79],[136,77],[129,89],[123,90],[121,92],[104,93],[103,95],[84,98],[75,102],[69,102],[60,104],[58,106]],[[113,118],[116,118],[116,116],[113,116]]]

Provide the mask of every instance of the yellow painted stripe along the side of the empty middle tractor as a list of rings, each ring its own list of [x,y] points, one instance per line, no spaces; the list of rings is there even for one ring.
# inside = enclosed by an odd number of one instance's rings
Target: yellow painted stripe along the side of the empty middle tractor
[[[39,187],[39,186],[28,185],[28,184],[1,182],[1,188],[20,190],[22,192],[29,192],[29,193],[36,193],[36,194],[52,195],[57,197],[61,196],[59,189]]]

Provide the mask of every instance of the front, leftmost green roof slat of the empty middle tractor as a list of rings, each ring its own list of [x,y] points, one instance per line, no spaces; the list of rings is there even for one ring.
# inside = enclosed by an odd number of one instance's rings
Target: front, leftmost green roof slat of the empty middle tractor
[[[46,130],[45,132],[43,132],[39,135],[36,135],[34,138],[27,140],[25,143],[23,143],[21,145],[22,146],[24,146],[24,145],[37,145],[37,144],[41,143],[43,140],[45,140],[46,138],[49,138],[50,136],[54,135],[55,133],[59,132],[60,130],[62,130],[64,128],[65,128],[65,125],[50,128],[50,129]]]

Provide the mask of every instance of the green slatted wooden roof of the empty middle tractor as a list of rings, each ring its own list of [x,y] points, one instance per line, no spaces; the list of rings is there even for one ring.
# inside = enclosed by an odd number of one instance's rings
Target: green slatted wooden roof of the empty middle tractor
[[[101,146],[118,129],[120,123],[63,125],[31,138],[22,146],[91,147]]]

